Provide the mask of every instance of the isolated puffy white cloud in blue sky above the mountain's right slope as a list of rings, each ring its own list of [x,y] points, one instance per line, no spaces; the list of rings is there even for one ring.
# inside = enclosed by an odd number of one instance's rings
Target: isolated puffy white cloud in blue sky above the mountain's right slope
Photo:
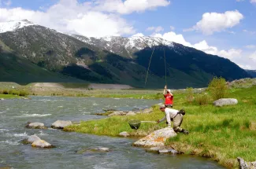
[[[225,31],[227,28],[236,26],[240,20],[243,20],[243,15],[237,10],[225,13],[204,13],[202,20],[184,31],[202,31],[204,35],[212,35],[214,32]]]

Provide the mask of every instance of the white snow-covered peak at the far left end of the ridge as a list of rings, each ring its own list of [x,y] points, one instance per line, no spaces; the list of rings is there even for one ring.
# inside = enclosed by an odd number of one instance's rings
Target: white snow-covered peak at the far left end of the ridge
[[[16,31],[17,29],[31,25],[34,24],[28,20],[0,22],[0,33],[4,33],[6,31]]]

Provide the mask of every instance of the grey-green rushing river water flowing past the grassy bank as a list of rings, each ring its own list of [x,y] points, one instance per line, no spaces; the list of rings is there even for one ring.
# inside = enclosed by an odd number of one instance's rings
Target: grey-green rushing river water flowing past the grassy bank
[[[32,97],[32,100],[0,101],[0,167],[13,168],[223,168],[217,163],[195,156],[158,155],[132,147],[134,139],[110,138],[91,134],[77,134],[62,130],[34,130],[24,126],[28,121],[46,126],[57,119],[79,121],[100,119],[91,113],[102,108],[132,110],[147,108],[159,101],[84,98]],[[32,148],[20,143],[29,135],[57,145],[55,149]],[[78,154],[77,150],[107,147],[110,152]]]

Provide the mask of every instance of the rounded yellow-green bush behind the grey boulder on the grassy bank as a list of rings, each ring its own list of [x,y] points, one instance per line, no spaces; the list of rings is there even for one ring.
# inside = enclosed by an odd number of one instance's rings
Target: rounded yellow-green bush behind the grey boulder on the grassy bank
[[[208,86],[208,91],[214,100],[224,98],[228,91],[228,86],[224,78],[214,77]]]

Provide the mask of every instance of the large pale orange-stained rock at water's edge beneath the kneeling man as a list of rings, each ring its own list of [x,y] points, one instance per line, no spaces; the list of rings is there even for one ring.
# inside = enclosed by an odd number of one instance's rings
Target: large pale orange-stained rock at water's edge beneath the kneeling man
[[[147,135],[145,138],[140,139],[133,143],[135,146],[143,146],[143,147],[157,147],[164,146],[165,141],[168,138],[173,138],[177,134],[171,127],[165,127],[160,130],[155,130],[153,133]]]

